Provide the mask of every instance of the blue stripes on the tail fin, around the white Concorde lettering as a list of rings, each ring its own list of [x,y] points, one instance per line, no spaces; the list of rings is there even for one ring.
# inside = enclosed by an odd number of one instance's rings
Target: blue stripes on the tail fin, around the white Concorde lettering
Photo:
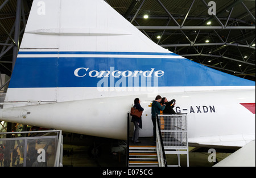
[[[89,52],[74,52],[86,53]],[[172,55],[172,53],[126,53],[126,52],[92,52],[97,54],[129,54],[129,55]],[[56,52],[19,52],[19,54],[56,54]],[[57,52],[57,54],[72,54],[72,52]],[[174,53],[173,53],[174,54]],[[175,54],[176,55],[176,54]],[[82,76],[76,77],[74,71],[80,67]],[[112,67],[112,68],[111,68]],[[164,71],[162,77],[158,77],[157,86],[255,86],[255,82],[234,77],[226,73],[200,65],[199,63],[180,58],[108,58],[108,57],[20,57],[17,58],[15,69],[11,77],[10,88],[36,88],[36,87],[97,87],[98,82],[106,78],[90,77],[89,71]],[[115,73],[118,74],[118,73]],[[154,76],[154,74],[152,75]],[[160,75],[159,75],[160,76]],[[139,77],[139,75],[137,76]],[[112,78],[113,79],[113,78]],[[147,78],[146,78],[147,79]],[[117,83],[120,78],[114,78]],[[139,80],[139,84],[133,86],[144,86]],[[106,81],[106,80],[105,80]],[[113,80],[112,80],[113,82]],[[108,87],[112,86],[110,77]],[[123,84],[123,82],[122,82]],[[131,86],[128,82],[120,87]],[[102,85],[103,86],[103,85]],[[154,78],[146,86],[155,86]]]

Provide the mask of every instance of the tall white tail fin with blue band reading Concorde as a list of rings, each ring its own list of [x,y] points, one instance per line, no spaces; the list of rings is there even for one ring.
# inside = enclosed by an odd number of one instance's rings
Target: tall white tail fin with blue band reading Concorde
[[[121,77],[132,80],[118,83]],[[135,84],[139,77],[147,83],[138,79]],[[104,0],[34,0],[6,101],[86,99],[96,96],[85,94],[84,88],[97,88],[99,83],[104,87],[255,86],[162,48]]]

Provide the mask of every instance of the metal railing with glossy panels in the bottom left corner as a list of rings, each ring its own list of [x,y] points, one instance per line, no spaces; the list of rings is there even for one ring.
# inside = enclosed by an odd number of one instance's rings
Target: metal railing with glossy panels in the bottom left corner
[[[0,133],[0,167],[59,167],[62,155],[61,130]]]

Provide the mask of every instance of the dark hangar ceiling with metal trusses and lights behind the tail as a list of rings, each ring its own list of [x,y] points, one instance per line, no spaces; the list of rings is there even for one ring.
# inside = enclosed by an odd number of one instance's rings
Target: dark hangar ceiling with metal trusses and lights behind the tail
[[[164,48],[255,81],[255,0],[105,1]],[[11,75],[31,4],[32,0],[0,0],[1,74]]]

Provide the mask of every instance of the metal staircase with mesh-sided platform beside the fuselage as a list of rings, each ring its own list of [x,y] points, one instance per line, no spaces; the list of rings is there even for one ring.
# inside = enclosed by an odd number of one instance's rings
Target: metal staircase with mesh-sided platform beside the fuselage
[[[156,117],[156,142],[140,138],[142,143],[129,142],[129,113],[127,120],[127,166],[180,166],[180,155],[188,157],[187,115],[158,115]],[[166,154],[176,154],[177,165],[167,165]]]

